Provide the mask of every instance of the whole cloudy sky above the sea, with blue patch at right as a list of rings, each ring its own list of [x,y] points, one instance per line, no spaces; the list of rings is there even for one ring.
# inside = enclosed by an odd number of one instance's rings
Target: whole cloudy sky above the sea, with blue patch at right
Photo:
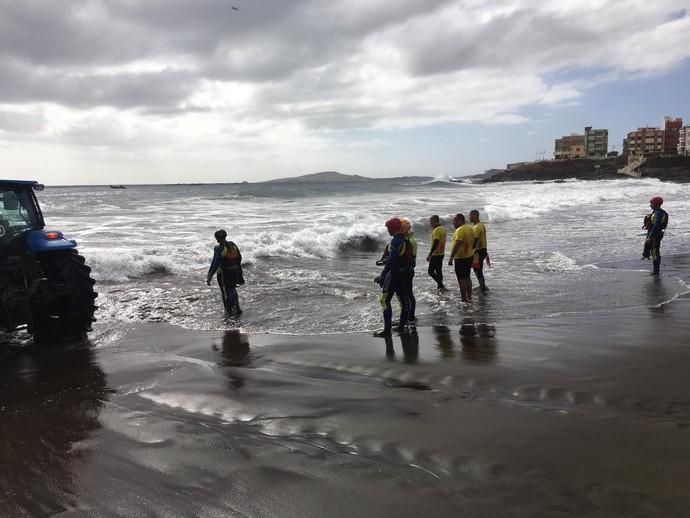
[[[0,0],[0,167],[462,175],[690,119],[690,0]]]

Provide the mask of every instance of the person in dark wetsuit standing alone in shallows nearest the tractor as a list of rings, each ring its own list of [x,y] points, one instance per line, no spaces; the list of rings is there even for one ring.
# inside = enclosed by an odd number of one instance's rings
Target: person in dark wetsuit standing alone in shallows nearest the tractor
[[[237,316],[242,314],[237,286],[244,284],[242,275],[242,254],[237,245],[228,241],[228,233],[218,230],[213,236],[218,245],[213,249],[213,261],[208,269],[206,284],[211,285],[211,279],[218,273],[218,286],[223,296],[225,312],[230,315],[234,311]]]

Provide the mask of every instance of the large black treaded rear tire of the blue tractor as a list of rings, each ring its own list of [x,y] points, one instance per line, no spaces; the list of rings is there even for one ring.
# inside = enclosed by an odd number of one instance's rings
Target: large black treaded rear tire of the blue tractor
[[[29,332],[41,344],[63,344],[84,340],[96,320],[95,299],[89,268],[76,250],[61,250],[38,256],[45,277],[50,281],[54,300],[47,309],[34,314]],[[54,289],[54,290],[53,290]]]

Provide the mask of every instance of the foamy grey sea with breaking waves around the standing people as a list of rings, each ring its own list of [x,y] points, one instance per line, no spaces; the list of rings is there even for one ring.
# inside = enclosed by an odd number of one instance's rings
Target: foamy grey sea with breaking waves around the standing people
[[[406,216],[419,240],[415,277],[420,325],[525,320],[654,306],[688,290],[673,275],[650,289],[640,259],[650,196],[666,200],[662,255],[690,244],[690,187],[652,179],[465,184],[265,183],[48,187],[47,226],[76,239],[99,292],[98,329],[166,322],[194,330],[240,328],[295,335],[371,332],[381,327],[374,264],[388,239],[384,221]],[[427,276],[428,217],[480,212],[486,223],[491,291],[472,305]],[[213,232],[242,251],[244,314],[226,319],[215,282],[206,286]],[[663,266],[662,266],[663,270]],[[476,279],[474,279],[476,288]]]

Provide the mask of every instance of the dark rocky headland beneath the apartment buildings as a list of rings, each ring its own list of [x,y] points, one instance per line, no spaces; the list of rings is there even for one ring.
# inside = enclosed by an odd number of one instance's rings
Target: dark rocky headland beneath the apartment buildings
[[[482,183],[533,180],[611,180],[631,178],[618,174],[627,161],[623,157],[606,160],[545,160],[479,177]],[[690,183],[690,157],[652,157],[641,167],[642,178],[659,178],[670,182]],[[632,178],[631,178],[632,179]]]

